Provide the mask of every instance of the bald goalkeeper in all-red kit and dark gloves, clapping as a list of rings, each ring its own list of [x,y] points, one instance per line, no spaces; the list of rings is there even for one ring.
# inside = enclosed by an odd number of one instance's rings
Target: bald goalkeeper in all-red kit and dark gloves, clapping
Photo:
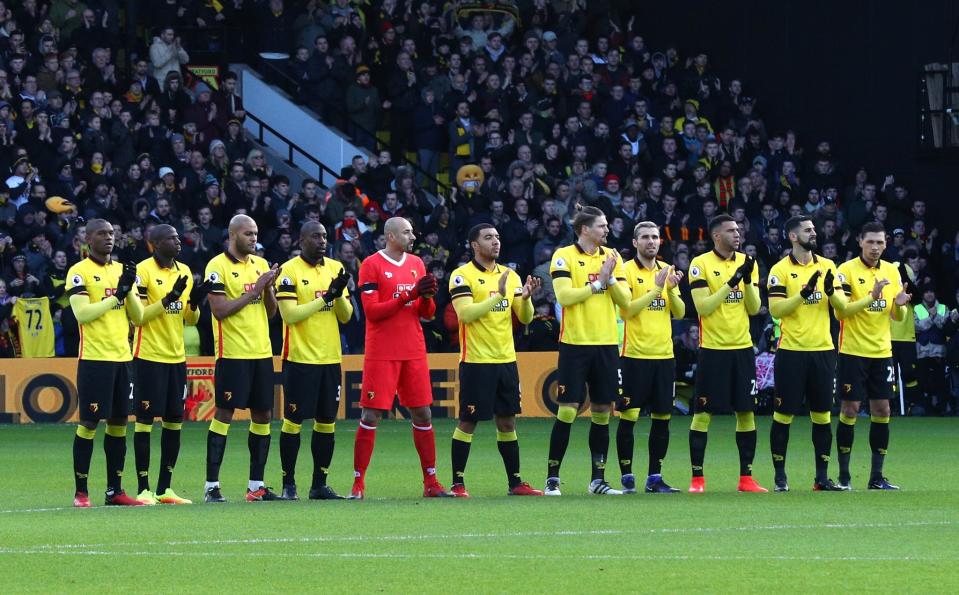
[[[393,217],[383,226],[383,233],[386,248],[360,266],[358,290],[366,313],[366,355],[350,498],[364,497],[376,426],[383,412],[393,408],[397,395],[412,418],[413,444],[423,468],[423,497],[448,497],[451,494],[436,479],[436,439],[430,413],[433,389],[420,326],[420,318],[431,319],[436,314],[436,278],[426,273],[419,257],[407,253],[415,239],[409,221]]]

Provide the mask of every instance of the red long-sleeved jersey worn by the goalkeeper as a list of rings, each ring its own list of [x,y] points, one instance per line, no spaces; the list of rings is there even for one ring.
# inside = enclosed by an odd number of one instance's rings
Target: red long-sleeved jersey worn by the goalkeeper
[[[366,315],[366,359],[407,360],[426,357],[420,318],[433,318],[432,299],[409,300],[416,282],[426,275],[418,256],[393,260],[382,250],[360,265],[358,290]]]

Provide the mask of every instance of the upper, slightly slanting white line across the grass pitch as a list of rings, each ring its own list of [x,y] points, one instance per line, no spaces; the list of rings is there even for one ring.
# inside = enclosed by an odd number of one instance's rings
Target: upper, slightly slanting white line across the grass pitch
[[[907,527],[945,527],[959,524],[959,521],[907,521],[902,523],[823,523],[819,525],[760,525],[742,527],[664,527],[640,530],[594,529],[589,531],[523,531],[517,533],[459,533],[446,535],[329,535],[316,537],[253,537],[249,539],[191,539],[157,542],[155,545],[164,547],[191,546],[191,545],[259,545],[282,543],[349,543],[370,541],[423,541],[444,539],[502,539],[505,537],[590,537],[605,535],[656,535],[656,534],[684,534],[684,533],[722,533],[729,531],[790,531],[790,530],[819,530],[819,529],[900,529]],[[90,548],[135,547],[142,546],[142,542],[127,543],[67,543],[67,544],[39,544],[25,546],[25,550],[63,551],[81,550]],[[10,548],[7,548],[9,550]],[[0,549],[0,553],[11,553]],[[878,559],[878,558],[877,558]]]

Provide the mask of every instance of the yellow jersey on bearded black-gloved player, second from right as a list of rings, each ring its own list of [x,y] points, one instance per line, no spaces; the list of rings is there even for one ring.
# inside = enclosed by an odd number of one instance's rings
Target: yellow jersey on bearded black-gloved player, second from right
[[[829,298],[824,293],[827,271],[832,271],[833,288],[842,291],[836,265],[828,258],[812,255],[808,264],[801,264],[790,254],[769,270],[766,286],[769,300],[791,298],[802,291],[809,278],[820,271],[816,291],[791,314],[780,321],[779,347],[792,351],[826,351],[833,349],[829,334]]]

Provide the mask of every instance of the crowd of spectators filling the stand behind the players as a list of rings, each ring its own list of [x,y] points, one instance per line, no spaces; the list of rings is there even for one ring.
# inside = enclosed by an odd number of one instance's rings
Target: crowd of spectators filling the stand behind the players
[[[457,323],[443,279],[469,259],[466,232],[477,223],[496,225],[501,262],[542,279],[533,322],[517,328],[518,347],[551,350],[559,324],[549,258],[572,242],[576,204],[606,214],[608,244],[624,258],[634,255],[635,224],[655,222],[660,256],[683,272],[711,248],[708,221],[728,213],[763,288],[789,248],[782,223],[807,214],[819,250],[837,263],[858,255],[863,224],[885,226],[884,258],[907,265],[913,285],[920,392],[912,404],[956,411],[959,381],[947,378],[947,367],[955,376],[959,235],[927,218],[927,197],[895,175],[841,163],[828,139],[766,122],[762,98],[727,74],[730,66],[720,78],[706,51],[649,47],[649,24],[616,5],[464,6],[155,0],[140,13],[149,38],[121,52],[115,2],[0,2],[3,354],[19,350],[16,300],[48,296],[56,353],[76,355],[64,286],[87,250],[78,218],[113,222],[123,261],[149,256],[152,225],[174,225],[180,259],[194,271],[222,251],[236,213],[256,220],[270,262],[294,255],[300,225],[316,220],[355,280],[359,263],[383,247],[383,222],[408,217],[416,253],[440,280],[438,315],[424,322],[427,347],[452,351]],[[355,157],[332,188],[314,180],[294,188],[274,175],[246,137],[236,75],[225,73],[212,89],[185,69],[192,51],[225,47],[224,28],[259,52],[288,55],[298,99],[368,148],[369,158]],[[195,47],[181,40],[187,29]],[[444,182],[468,163],[484,173],[479,191],[449,189]],[[76,209],[49,211],[54,196]],[[688,284],[681,291],[686,319],[695,320]],[[210,354],[208,310],[201,316],[189,349]],[[675,329],[678,353],[695,350],[687,326]],[[758,351],[775,348],[777,321],[765,307],[751,330]],[[908,332],[901,340],[911,340]],[[343,342],[348,353],[362,350],[361,307]],[[689,371],[680,366],[678,374]]]

